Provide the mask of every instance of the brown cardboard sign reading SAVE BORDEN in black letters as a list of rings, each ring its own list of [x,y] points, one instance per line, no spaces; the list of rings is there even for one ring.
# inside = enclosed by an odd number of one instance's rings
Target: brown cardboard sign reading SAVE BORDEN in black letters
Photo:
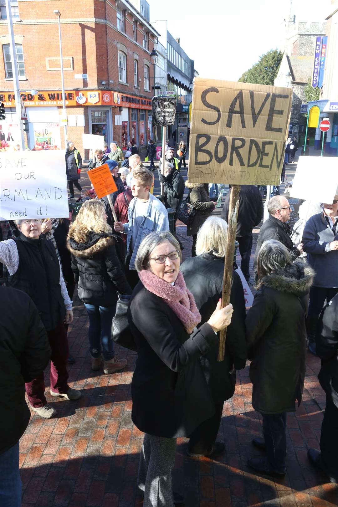
[[[195,78],[189,181],[279,184],[291,99],[290,88]]]

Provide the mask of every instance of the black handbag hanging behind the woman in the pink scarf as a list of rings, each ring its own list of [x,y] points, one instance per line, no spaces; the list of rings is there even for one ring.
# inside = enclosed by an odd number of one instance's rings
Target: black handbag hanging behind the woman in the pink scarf
[[[137,352],[134,337],[130,331],[127,310],[131,296],[125,296],[117,293],[118,301],[116,303],[115,317],[111,323],[111,339],[117,345],[122,345],[129,350]]]

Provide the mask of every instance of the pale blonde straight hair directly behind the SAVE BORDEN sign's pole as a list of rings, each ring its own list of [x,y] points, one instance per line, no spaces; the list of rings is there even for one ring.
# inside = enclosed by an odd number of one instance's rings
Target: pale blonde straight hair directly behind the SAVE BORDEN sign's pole
[[[216,257],[226,257],[228,224],[218,216],[209,216],[197,234],[196,255],[213,253]]]

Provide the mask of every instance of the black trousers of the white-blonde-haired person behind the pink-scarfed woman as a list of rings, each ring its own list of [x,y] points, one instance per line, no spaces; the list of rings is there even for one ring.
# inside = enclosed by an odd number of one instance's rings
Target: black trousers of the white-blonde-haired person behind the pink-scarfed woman
[[[210,454],[216,442],[222,418],[222,403],[215,403],[215,413],[210,419],[202,422],[190,435],[189,450],[195,454]]]

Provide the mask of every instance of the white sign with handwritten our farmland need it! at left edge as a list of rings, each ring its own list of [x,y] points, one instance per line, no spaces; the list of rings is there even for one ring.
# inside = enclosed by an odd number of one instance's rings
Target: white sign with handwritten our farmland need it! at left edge
[[[0,153],[0,220],[69,218],[64,153]]]

